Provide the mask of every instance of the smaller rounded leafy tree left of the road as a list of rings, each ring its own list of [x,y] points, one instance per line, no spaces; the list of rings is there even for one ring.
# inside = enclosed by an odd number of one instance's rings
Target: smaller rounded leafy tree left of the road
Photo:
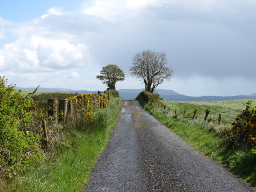
[[[117,65],[109,64],[102,67],[96,78],[106,83],[108,89],[116,89],[116,82],[124,80],[124,72]]]

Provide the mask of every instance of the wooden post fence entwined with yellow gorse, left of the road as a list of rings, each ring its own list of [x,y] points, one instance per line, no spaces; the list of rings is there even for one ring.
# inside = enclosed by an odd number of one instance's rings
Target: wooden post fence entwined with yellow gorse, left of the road
[[[54,138],[58,137],[60,133],[58,132],[59,123],[66,126],[67,123],[70,123],[68,119],[72,118],[73,113],[79,113],[79,110],[85,112],[86,110],[105,108],[109,101],[110,93],[101,91],[98,91],[98,94],[81,94],[73,97],[73,100],[72,98],[66,98],[31,101],[34,106],[34,108],[32,107],[30,109],[30,111],[33,111],[33,118],[30,122],[23,125],[21,124],[20,128],[24,130],[26,135],[29,134],[29,132],[39,135],[40,139],[38,142],[42,141],[42,144],[48,148],[49,143],[53,144]],[[89,116],[91,114],[93,113],[89,112]]]

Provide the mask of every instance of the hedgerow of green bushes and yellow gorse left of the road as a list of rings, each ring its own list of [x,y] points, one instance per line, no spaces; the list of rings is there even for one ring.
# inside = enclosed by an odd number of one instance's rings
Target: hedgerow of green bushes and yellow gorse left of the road
[[[12,178],[43,162],[42,156],[47,153],[54,155],[64,140],[67,127],[74,122],[83,124],[79,131],[90,133],[97,131],[95,127],[98,122],[101,125],[107,124],[97,109],[108,106],[110,95],[118,96],[116,91],[102,95],[70,95],[66,100],[73,103],[72,116],[69,115],[69,119],[65,119],[61,124],[55,124],[52,121],[54,118],[48,116],[48,107],[42,105],[46,104],[46,101],[43,101],[45,99],[36,98],[37,101],[33,101],[28,95],[22,94],[21,90],[16,90],[15,85],[8,85],[7,80],[5,76],[0,76],[0,181],[6,176]],[[42,144],[45,139],[42,134],[42,120],[48,122],[47,147]],[[103,128],[103,125],[100,127]]]

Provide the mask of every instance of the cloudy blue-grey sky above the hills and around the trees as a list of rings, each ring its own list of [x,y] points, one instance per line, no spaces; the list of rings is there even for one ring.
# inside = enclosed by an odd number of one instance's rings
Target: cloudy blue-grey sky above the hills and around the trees
[[[96,79],[116,64],[116,89],[144,88],[132,56],[166,51],[171,81],[188,96],[256,92],[256,0],[0,0],[0,76],[17,87],[106,90]]]

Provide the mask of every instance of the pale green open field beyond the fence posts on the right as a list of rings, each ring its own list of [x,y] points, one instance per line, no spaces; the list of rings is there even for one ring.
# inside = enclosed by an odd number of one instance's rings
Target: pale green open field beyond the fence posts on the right
[[[218,102],[192,102],[192,101],[162,101],[167,108],[173,111],[177,110],[178,113],[183,114],[198,110],[198,114],[204,117],[205,110],[210,109],[209,117],[212,116],[218,119],[218,115],[222,114],[222,124],[231,125],[234,117],[246,108],[248,100],[228,100]],[[256,106],[256,101],[252,102],[252,106]]]

